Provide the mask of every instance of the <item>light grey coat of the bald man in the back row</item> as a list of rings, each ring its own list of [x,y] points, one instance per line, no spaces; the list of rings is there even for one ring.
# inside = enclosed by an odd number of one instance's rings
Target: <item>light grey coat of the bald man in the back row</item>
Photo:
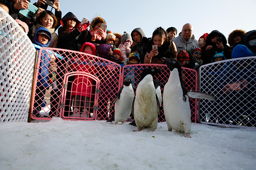
[[[193,47],[199,47],[199,43],[194,35],[192,35],[190,39],[184,39],[181,32],[179,36],[172,39],[172,41],[175,43],[178,52],[180,50],[190,51]]]

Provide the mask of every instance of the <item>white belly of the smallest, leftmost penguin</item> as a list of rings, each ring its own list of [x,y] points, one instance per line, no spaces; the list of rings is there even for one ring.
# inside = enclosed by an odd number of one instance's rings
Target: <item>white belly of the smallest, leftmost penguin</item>
[[[132,112],[132,102],[134,99],[134,91],[132,85],[124,86],[120,99],[115,103],[115,123],[124,123]]]

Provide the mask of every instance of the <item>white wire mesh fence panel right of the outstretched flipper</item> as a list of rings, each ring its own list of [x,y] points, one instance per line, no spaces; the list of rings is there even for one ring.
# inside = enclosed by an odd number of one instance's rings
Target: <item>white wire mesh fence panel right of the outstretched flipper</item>
[[[200,91],[216,102],[200,101],[200,122],[255,127],[256,57],[230,59],[200,67]]]

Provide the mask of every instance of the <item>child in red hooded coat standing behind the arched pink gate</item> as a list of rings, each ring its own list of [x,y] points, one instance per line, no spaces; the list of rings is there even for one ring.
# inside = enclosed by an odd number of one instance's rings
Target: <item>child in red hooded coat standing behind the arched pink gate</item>
[[[93,43],[86,42],[82,45],[80,52],[95,55],[96,49]],[[90,58],[79,55],[72,59],[73,71],[82,71],[93,74],[94,66],[90,64]],[[71,96],[75,99],[74,116],[88,117],[90,102],[93,94],[94,80],[84,75],[75,75],[72,84]],[[79,114],[80,113],[80,114]]]

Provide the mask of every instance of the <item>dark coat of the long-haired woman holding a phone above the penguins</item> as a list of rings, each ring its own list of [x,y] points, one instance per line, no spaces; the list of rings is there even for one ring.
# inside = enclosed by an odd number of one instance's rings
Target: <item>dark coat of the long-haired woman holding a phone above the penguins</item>
[[[153,39],[150,39],[150,41],[148,42],[148,47],[147,47],[148,53],[150,53],[150,51],[152,51],[152,45],[154,45],[154,41],[153,41]],[[173,53],[171,45],[172,45],[171,41],[166,40],[166,41],[164,41],[163,45],[161,45],[160,47],[157,47],[158,55],[153,57],[150,64],[164,64],[164,62],[161,59],[162,57],[171,59],[172,53]]]

